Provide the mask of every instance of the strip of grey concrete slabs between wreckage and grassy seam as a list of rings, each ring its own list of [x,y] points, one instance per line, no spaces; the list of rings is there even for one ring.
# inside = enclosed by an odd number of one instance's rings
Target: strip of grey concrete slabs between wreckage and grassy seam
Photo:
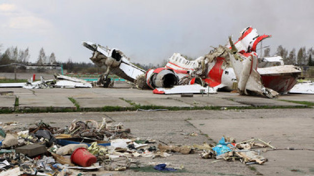
[[[99,108],[104,106],[127,107],[125,102],[118,100],[124,98],[140,105],[156,105],[165,107],[244,107],[244,106],[288,106],[300,107],[301,104],[279,101],[280,99],[294,99],[297,101],[313,101],[310,95],[281,95],[279,99],[264,97],[243,96],[238,93],[218,92],[217,94],[195,94],[194,97],[182,98],[180,94],[160,95],[153,94],[152,90],[139,90],[137,88],[48,88],[48,89],[24,89],[24,88],[0,88],[0,91],[13,91],[19,97],[20,109],[38,108],[45,109],[55,107],[62,110],[74,108],[68,97],[78,99],[85,108]],[[83,99],[84,98],[84,99]],[[95,98],[92,100],[92,98]],[[103,100],[109,101],[103,101]],[[86,100],[86,102],[84,102]],[[110,102],[110,100],[112,100]]]

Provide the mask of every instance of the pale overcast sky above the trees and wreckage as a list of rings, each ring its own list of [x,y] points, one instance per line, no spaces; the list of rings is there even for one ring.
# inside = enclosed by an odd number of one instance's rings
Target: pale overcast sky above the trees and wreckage
[[[90,62],[82,41],[122,50],[137,63],[160,63],[174,52],[198,57],[251,25],[273,54],[314,46],[314,0],[0,0],[1,51],[8,46]]]

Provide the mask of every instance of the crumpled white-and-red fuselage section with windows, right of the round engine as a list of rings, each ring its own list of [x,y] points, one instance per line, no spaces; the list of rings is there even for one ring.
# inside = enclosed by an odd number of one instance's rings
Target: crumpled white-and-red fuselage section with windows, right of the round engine
[[[197,84],[207,84],[215,89],[232,90],[233,84],[236,83],[235,73],[223,58],[217,58],[217,56],[223,54],[222,50],[214,54],[188,61],[180,53],[174,53],[165,67],[176,72],[180,79],[179,85],[195,84],[195,80],[201,78],[202,81],[197,82]]]

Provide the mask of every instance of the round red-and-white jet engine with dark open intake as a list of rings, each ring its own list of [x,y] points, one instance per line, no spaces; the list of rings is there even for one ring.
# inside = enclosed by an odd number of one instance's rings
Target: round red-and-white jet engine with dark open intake
[[[179,77],[173,69],[156,68],[146,72],[146,83],[150,88],[173,88],[179,84]]]

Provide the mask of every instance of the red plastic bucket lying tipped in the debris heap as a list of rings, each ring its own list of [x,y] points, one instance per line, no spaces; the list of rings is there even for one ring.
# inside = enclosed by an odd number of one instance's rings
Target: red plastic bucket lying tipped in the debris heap
[[[89,153],[87,149],[80,147],[72,153],[71,161],[79,166],[89,167],[97,162],[97,158]]]

